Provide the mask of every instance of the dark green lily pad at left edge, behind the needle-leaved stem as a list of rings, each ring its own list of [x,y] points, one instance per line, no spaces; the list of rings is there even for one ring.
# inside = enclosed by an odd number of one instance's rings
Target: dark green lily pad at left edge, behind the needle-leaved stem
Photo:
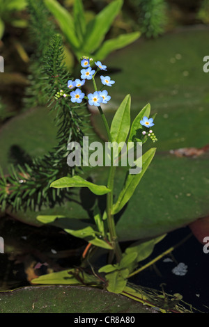
[[[26,111],[9,120],[0,129],[0,166],[5,173],[9,163],[40,157],[56,145],[54,115],[44,107]],[[22,155],[21,158],[18,156]]]

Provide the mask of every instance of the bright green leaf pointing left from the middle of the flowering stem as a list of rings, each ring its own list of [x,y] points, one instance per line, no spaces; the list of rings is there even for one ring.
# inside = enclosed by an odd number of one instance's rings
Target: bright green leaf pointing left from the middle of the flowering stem
[[[80,176],[73,177],[62,177],[59,180],[52,182],[50,187],[54,187],[56,189],[63,189],[65,187],[88,187],[92,193],[97,196],[103,196],[110,192],[104,185],[96,185],[91,182],[84,180]]]

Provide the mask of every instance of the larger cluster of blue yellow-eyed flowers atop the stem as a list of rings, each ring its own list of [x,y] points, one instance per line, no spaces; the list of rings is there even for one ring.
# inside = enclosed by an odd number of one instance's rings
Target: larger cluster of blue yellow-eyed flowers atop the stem
[[[72,90],[70,95],[66,95],[61,90],[59,95],[56,95],[56,98],[63,96],[69,97],[72,103],[81,103],[84,98],[88,99],[88,104],[91,106],[100,106],[100,104],[107,104],[107,102],[111,99],[110,95],[108,95],[107,90],[101,90],[104,86],[112,86],[115,81],[111,81],[109,76],[100,76],[101,82],[103,84],[102,88],[99,91],[95,91],[94,93],[89,93],[87,97],[82,92],[81,88],[84,86],[86,79],[94,80],[96,72],[98,70],[107,70],[107,66],[102,65],[100,61],[95,61],[95,65],[98,67],[97,70],[93,70],[91,68],[91,60],[88,58],[82,58],[81,65],[84,69],[81,70],[81,79],[75,79],[68,81],[68,88]],[[73,90],[75,89],[75,90]]]

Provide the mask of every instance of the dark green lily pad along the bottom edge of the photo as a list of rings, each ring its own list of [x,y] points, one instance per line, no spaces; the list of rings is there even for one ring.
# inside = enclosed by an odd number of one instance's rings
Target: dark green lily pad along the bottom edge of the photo
[[[80,286],[23,287],[0,292],[1,313],[157,313],[121,294]],[[78,316],[79,318],[79,316]]]

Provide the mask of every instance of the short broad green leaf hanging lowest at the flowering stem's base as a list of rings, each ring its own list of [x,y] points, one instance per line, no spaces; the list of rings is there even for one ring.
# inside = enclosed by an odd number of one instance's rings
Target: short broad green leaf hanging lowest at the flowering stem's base
[[[123,289],[125,289],[125,286],[127,284],[128,275],[129,275],[128,269],[107,273],[107,275],[105,276],[108,282],[107,290],[109,292],[116,293],[116,294],[123,292]]]

